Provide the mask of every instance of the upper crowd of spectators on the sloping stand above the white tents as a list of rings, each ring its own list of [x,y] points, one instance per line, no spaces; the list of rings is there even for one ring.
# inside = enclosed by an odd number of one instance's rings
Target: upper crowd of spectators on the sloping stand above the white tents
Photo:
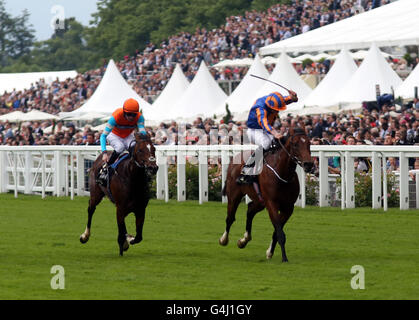
[[[299,33],[345,19],[358,12],[388,3],[366,0],[293,0],[292,5],[277,4],[265,12],[250,11],[243,16],[226,18],[218,29],[181,32],[163,41],[159,47],[150,43],[144,51],[125,56],[117,63],[122,75],[136,92],[152,103],[170,79],[179,63],[192,80],[204,60],[212,66],[223,59],[254,57],[259,48]],[[326,73],[333,61],[296,65],[301,73]],[[268,65],[272,71],[274,65]],[[93,94],[106,70],[106,62],[96,70],[79,74],[75,79],[39,81],[31,88],[5,92],[0,96],[0,114],[10,110],[38,109],[57,114],[79,108]],[[211,68],[216,80],[240,81],[248,68]]]

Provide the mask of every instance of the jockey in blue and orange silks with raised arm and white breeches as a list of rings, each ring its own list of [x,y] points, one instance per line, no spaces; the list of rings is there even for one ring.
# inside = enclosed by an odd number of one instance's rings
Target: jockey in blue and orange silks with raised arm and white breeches
[[[249,157],[237,178],[238,184],[256,182],[256,176],[262,171],[262,151],[269,150],[274,138],[280,139],[281,134],[273,128],[279,111],[287,109],[287,105],[297,102],[298,97],[294,91],[289,90],[288,96],[273,92],[256,100],[247,119],[247,136],[250,143],[259,147]]]

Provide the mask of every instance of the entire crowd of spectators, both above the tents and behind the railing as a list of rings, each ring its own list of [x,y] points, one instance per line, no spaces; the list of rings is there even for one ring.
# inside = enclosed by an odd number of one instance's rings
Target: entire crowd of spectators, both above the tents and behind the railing
[[[294,0],[292,6],[278,4],[263,13],[252,11],[246,12],[244,16],[228,17],[226,24],[219,29],[197,29],[193,34],[180,33],[164,41],[159,48],[149,44],[143,52],[132,57],[126,56],[117,66],[123,76],[132,82],[139,95],[151,99],[164,88],[175,63],[179,63],[186,77],[192,80],[202,60],[208,65],[214,65],[222,59],[252,57],[260,47],[388,2]],[[104,63],[102,68],[79,74],[74,79],[57,80],[49,85],[39,81],[27,90],[4,93],[0,96],[0,113],[38,109],[56,114],[77,109],[94,93],[105,67]],[[317,69],[317,72],[327,72],[330,66],[316,64],[310,67]],[[221,71],[211,69],[214,78],[218,80],[240,80],[246,71],[244,68]],[[298,71],[312,72],[304,69]],[[305,124],[314,145],[419,143],[417,100],[402,106],[397,106],[394,100],[375,107],[364,105],[359,113],[349,111],[304,117],[283,115],[277,119],[275,127],[286,132],[292,121]],[[174,121],[162,123],[158,128],[147,127],[156,144],[176,144],[179,139],[184,139],[181,143],[186,144],[216,143],[222,139],[232,139],[230,143],[241,143],[245,129],[246,122],[235,121],[234,118],[227,123],[223,120],[215,122],[213,119],[197,118],[182,128]],[[210,135],[212,130],[218,131],[215,141],[211,140],[214,138]],[[21,124],[0,122],[0,145],[98,145],[100,133],[89,125],[77,128],[72,123],[62,121]],[[203,134],[206,134],[205,139],[202,139]],[[368,169],[367,163],[362,165],[360,162],[357,162],[360,170],[365,167]],[[388,165],[397,168],[395,161]],[[333,170],[338,164],[330,163],[329,166]],[[413,161],[410,166],[419,168],[419,163]]]

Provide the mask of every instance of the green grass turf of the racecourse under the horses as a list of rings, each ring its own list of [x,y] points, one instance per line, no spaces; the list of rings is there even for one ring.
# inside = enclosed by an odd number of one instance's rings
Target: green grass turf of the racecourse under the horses
[[[114,206],[104,200],[92,236],[79,242],[88,198],[0,195],[0,299],[418,299],[418,211],[296,208],[285,227],[288,263],[277,247],[266,260],[272,225],[254,219],[253,240],[240,205],[230,243],[226,205],[196,201],[147,208],[143,242],[119,256]],[[126,219],[135,233],[134,215]],[[53,265],[65,289],[53,290]],[[365,290],[351,288],[351,267],[365,269]]]

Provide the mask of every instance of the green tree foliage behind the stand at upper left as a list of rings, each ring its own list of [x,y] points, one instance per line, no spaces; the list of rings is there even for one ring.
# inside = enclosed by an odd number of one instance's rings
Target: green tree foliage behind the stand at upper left
[[[279,2],[289,0],[99,0],[90,26],[66,19],[51,39],[34,42],[29,13],[13,18],[0,0],[0,71],[84,71],[104,59],[141,52],[150,42],[159,45],[179,32],[219,28],[228,16]]]

